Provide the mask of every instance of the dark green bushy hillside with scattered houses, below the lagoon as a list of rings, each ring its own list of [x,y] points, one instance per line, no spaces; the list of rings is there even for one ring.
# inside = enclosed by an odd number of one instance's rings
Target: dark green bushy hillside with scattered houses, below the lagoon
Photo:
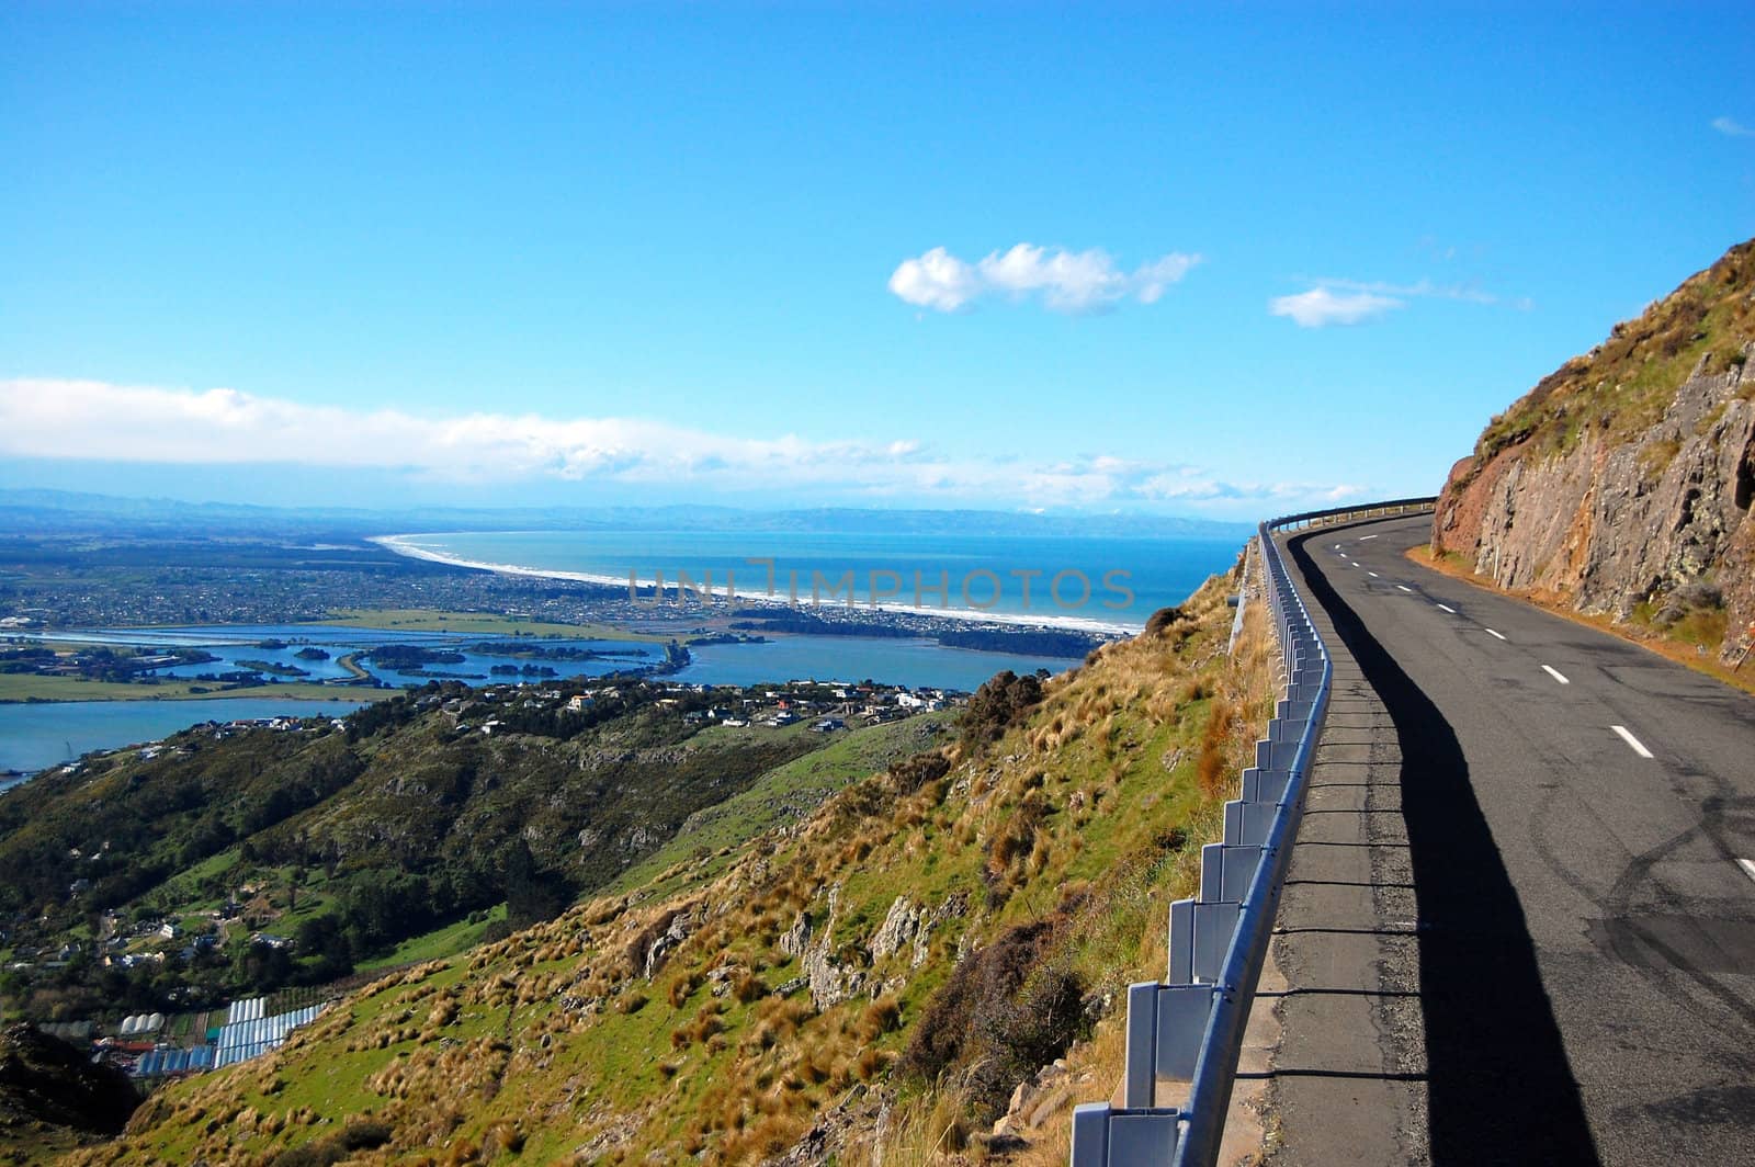
[[[893,697],[446,683],[346,721],[205,725],[88,758],[0,798],[0,1006],[116,1021],[448,955],[697,846],[709,807],[797,816],[949,718],[900,718]],[[779,700],[886,721],[748,725]]]

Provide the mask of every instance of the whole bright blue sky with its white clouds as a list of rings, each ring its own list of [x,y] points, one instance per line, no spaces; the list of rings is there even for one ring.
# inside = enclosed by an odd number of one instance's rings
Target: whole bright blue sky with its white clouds
[[[1737,5],[0,7],[0,486],[1258,518],[1755,235]]]

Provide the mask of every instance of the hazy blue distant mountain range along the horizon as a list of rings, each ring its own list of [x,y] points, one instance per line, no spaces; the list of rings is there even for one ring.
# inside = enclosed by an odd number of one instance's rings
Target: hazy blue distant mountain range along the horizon
[[[0,490],[0,533],[381,535],[441,530],[700,530],[921,535],[1042,535],[1088,539],[1248,537],[1246,523],[1153,514],[1027,514],[1011,511],[744,511],[667,507],[261,507],[174,498],[121,498],[63,490]]]

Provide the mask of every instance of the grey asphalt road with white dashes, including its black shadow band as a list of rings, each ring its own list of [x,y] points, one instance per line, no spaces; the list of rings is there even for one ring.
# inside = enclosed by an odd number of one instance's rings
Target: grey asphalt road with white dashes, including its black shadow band
[[[1755,1163],[1755,698],[1409,562],[1288,539],[1395,721],[1437,1163]]]

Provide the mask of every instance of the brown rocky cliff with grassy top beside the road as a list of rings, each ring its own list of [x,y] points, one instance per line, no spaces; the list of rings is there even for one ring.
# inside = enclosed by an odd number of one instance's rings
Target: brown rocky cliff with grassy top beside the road
[[[1432,549],[1732,660],[1755,623],[1755,240],[1574,356],[1458,462]]]

